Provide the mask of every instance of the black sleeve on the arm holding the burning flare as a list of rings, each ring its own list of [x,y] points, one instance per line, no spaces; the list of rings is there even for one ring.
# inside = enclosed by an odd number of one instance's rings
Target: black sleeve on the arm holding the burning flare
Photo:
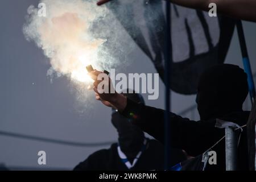
[[[127,98],[127,106],[121,113],[133,118],[134,125],[164,143],[164,110],[137,104]],[[212,121],[191,121],[170,113],[171,147],[185,150],[189,155],[199,155],[224,135]]]

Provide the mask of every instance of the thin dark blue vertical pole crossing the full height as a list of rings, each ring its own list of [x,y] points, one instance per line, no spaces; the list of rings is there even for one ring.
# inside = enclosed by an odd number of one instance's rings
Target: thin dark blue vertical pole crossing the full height
[[[171,111],[171,96],[170,96],[170,76],[171,76],[171,9],[170,2],[166,1],[166,30],[165,30],[165,50],[164,50],[164,80],[166,83],[166,100],[164,113],[164,168],[168,170],[170,165],[170,111]]]

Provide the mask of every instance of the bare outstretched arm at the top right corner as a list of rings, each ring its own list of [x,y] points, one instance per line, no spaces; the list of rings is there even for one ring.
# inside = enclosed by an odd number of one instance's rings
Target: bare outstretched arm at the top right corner
[[[204,11],[209,10],[210,3],[216,3],[217,12],[232,18],[256,22],[255,0],[170,0],[176,5]]]

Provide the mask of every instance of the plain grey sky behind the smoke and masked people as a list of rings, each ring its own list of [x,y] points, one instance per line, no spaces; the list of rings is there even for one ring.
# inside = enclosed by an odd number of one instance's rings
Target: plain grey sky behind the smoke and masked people
[[[0,130],[35,135],[73,142],[105,142],[117,140],[110,123],[111,111],[94,98],[84,113],[77,110],[77,101],[66,78],[50,82],[46,73],[48,59],[34,43],[27,42],[22,32],[24,16],[32,0],[0,1]],[[243,22],[251,68],[256,72],[256,24]],[[116,72],[155,73],[150,60],[139,48],[129,55],[130,65]],[[240,46],[235,32],[226,63],[242,67]],[[158,100],[147,105],[164,108],[164,85],[160,81]],[[195,104],[195,96],[172,92],[172,111],[180,111]],[[250,106],[247,105],[246,108]],[[195,118],[198,118],[197,114]],[[157,122],[157,121],[156,121]],[[36,142],[0,135],[0,163],[6,166],[72,169],[89,154],[102,147],[72,147],[61,144]],[[46,151],[47,165],[39,166],[37,153]]]

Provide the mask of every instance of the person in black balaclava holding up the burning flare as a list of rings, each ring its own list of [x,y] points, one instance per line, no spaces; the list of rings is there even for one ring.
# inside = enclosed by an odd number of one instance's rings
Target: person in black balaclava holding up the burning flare
[[[97,80],[101,72],[93,71],[90,76]],[[114,106],[126,118],[133,118],[133,124],[164,141],[164,110],[144,106],[118,93],[98,93],[94,82],[96,99],[106,106]],[[112,86],[109,79],[109,88]],[[224,129],[216,127],[216,119],[246,124],[249,111],[242,110],[248,94],[247,75],[243,69],[232,64],[220,64],[207,69],[201,76],[197,92],[197,109],[200,121],[191,121],[170,113],[171,147],[185,150],[189,156],[203,154],[225,135]],[[248,169],[246,131],[242,132],[238,146],[238,169]],[[225,170],[225,140],[212,150],[217,153],[217,164],[208,165],[206,170]]]

